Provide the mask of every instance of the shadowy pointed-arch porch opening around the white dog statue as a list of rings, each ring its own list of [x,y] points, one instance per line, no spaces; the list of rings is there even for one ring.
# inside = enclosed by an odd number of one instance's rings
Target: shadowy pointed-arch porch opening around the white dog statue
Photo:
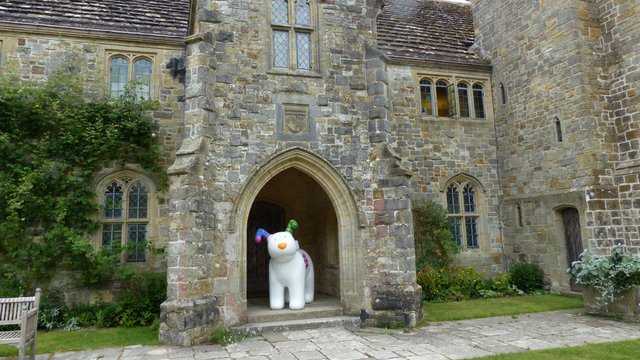
[[[252,304],[264,303],[263,300],[269,296],[269,254],[265,243],[255,243],[256,230],[264,228],[269,233],[284,231],[289,219],[298,222],[299,228],[293,235],[300,248],[313,260],[316,298],[324,299],[323,302],[333,298],[332,302],[340,303],[336,211],[313,178],[303,171],[288,168],[263,186],[249,212],[246,234],[249,312]]]

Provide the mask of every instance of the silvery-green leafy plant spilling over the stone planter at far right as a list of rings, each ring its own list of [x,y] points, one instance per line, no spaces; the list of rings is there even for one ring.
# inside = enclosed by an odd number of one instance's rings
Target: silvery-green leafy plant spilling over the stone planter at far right
[[[640,286],[640,256],[626,253],[621,245],[615,246],[610,256],[587,250],[567,273],[576,284],[596,288],[600,292],[596,306],[604,308],[615,300],[616,293]]]

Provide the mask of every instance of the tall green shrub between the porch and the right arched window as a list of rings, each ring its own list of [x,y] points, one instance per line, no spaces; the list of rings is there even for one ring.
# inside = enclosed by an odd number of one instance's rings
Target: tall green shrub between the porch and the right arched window
[[[460,248],[451,233],[445,209],[431,200],[414,200],[412,212],[418,270],[450,265]]]

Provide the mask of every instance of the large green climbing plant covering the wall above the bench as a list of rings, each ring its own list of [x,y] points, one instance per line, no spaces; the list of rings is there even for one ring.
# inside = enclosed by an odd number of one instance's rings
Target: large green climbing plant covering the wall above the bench
[[[80,79],[38,86],[0,81],[0,289],[15,296],[57,269],[86,272],[89,285],[113,274],[85,236],[97,229],[93,175],[108,161],[138,163],[162,180],[160,149],[129,91],[86,100]]]

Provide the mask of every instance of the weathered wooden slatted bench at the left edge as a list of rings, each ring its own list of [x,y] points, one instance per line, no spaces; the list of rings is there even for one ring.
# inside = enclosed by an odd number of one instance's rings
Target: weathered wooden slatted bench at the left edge
[[[20,325],[20,330],[0,331],[0,344],[18,346],[20,360],[25,359],[27,348],[29,359],[35,359],[39,307],[40,289],[34,296],[0,298],[0,326]]]

